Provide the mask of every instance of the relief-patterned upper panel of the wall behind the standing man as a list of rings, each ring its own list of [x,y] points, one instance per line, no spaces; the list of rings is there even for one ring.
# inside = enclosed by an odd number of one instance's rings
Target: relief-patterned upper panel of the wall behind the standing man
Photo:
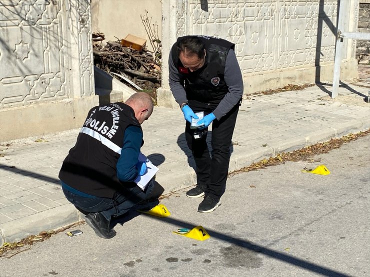
[[[177,6],[177,35],[235,43],[243,73],[261,74],[334,60],[336,0],[198,0]],[[184,4],[185,3],[185,4]]]

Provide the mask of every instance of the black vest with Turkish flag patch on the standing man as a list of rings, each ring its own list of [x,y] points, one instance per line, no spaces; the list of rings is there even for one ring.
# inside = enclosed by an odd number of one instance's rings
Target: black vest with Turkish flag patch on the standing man
[[[183,67],[176,44],[173,44],[172,60],[180,74],[180,83],[186,91],[187,100],[197,100],[208,103],[219,103],[228,91],[223,75],[228,51],[234,49],[235,44],[212,36],[197,35],[205,46],[205,64],[202,68],[190,72]]]

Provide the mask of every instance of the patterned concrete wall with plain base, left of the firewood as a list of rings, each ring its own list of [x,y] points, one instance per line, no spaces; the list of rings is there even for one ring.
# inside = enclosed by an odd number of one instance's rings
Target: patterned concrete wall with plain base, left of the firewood
[[[92,66],[89,0],[1,0],[0,141],[78,126]]]

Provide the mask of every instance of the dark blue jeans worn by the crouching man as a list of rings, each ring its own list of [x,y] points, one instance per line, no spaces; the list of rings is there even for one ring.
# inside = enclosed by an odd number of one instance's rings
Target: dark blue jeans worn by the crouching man
[[[65,198],[72,203],[80,212],[101,213],[108,221],[111,217],[118,217],[127,213],[133,206],[142,200],[147,199],[154,187],[153,181],[150,181],[145,191],[138,186],[125,189],[124,195],[116,192],[113,198],[94,197],[88,198],[74,194],[63,189]]]

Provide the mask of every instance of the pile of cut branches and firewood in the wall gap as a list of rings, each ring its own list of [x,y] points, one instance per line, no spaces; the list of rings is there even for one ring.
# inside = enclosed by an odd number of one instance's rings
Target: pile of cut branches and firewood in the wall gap
[[[103,46],[104,34],[93,33],[94,65],[136,91],[153,91],[160,87],[160,65],[154,62],[152,52],[144,48],[137,51],[108,41]]]

